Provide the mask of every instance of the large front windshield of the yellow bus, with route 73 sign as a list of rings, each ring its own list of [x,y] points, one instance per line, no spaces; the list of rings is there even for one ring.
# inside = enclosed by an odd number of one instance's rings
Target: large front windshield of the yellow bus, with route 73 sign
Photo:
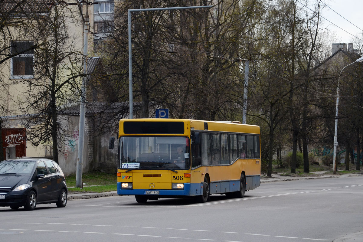
[[[124,136],[119,139],[121,169],[189,169],[189,138]]]

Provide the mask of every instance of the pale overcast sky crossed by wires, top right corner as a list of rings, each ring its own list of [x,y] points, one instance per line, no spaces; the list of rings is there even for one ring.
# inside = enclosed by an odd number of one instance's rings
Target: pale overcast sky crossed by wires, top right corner
[[[332,8],[335,12],[339,13],[344,18],[358,26],[360,29],[363,29],[363,0],[323,0],[323,2]],[[325,6],[325,9],[323,9],[321,15],[327,20],[338,25],[340,28],[363,40],[362,30],[340,17],[330,8]],[[331,24],[325,19],[322,20],[324,22],[323,26],[328,28],[330,31],[336,32],[336,42],[352,42],[351,39],[353,36],[351,34],[348,34],[344,30],[339,29],[337,26]]]

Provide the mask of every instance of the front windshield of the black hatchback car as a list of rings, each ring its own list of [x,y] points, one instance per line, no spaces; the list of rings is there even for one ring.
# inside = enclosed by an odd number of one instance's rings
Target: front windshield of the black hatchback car
[[[30,174],[35,161],[32,160],[4,160],[0,163],[0,175],[2,174]]]

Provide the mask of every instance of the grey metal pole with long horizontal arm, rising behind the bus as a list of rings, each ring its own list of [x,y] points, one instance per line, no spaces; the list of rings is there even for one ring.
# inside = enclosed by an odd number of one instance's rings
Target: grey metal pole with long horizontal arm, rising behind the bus
[[[131,50],[131,12],[147,12],[147,11],[165,11],[165,10],[177,10],[177,9],[191,9],[191,8],[211,8],[211,6],[191,6],[191,7],[174,7],[174,8],[140,8],[129,9],[127,11],[128,26],[129,26],[129,107],[130,107],[130,119],[134,118],[134,103],[132,100],[132,50]]]

